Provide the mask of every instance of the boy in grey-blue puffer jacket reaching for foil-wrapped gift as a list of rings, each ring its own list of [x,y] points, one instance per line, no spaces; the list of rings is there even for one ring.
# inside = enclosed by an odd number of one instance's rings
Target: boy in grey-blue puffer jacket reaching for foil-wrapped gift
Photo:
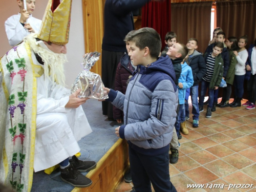
[[[178,105],[175,71],[168,57],[159,57],[160,35],[152,28],[127,34],[129,56],[137,70],[125,95],[106,88],[124,112],[116,134],[129,143],[132,180],[136,191],[177,191],[169,177],[169,143]],[[125,38],[126,38],[125,37]]]

